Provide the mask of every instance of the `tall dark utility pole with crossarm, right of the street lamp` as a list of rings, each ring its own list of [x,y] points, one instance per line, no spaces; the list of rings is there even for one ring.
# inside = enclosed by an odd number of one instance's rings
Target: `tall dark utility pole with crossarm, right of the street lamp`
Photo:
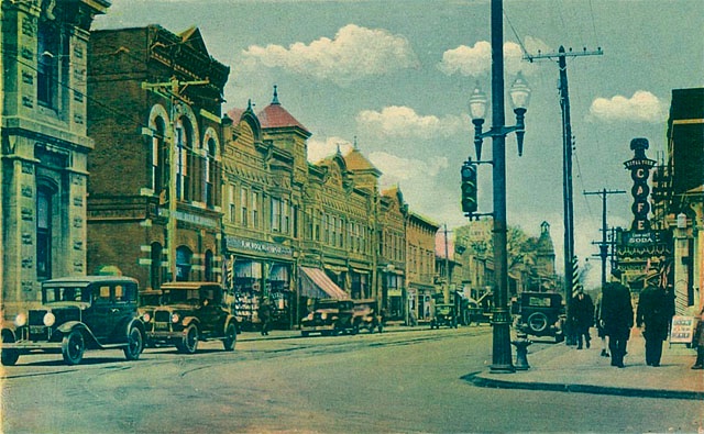
[[[565,298],[571,300],[573,287],[573,258],[574,258],[574,208],[572,197],[572,123],[570,119],[570,93],[568,87],[568,57],[581,57],[581,56],[601,56],[604,52],[598,47],[595,52],[587,52],[584,48],[582,52],[569,52],[564,51],[564,46],[560,46],[558,53],[541,54],[538,55],[526,54],[524,59],[534,62],[536,59],[558,59],[558,67],[560,68],[560,108],[562,109],[562,196],[564,205],[564,293]]]

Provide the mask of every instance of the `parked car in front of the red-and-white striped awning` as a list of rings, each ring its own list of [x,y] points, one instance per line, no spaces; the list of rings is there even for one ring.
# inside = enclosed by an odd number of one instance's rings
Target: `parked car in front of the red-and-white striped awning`
[[[300,334],[310,333],[337,335],[355,333],[352,322],[354,302],[352,300],[321,299],[316,300],[314,310],[300,321]]]

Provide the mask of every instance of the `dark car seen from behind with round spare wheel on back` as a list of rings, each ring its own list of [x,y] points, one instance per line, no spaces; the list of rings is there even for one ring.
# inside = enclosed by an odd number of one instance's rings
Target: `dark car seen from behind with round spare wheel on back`
[[[518,298],[515,326],[519,332],[534,336],[564,340],[565,321],[562,294],[557,292],[521,292]]]

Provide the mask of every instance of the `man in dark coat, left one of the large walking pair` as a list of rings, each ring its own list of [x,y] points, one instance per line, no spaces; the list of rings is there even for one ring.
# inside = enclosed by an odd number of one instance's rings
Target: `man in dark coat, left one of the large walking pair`
[[[624,285],[613,281],[604,287],[601,323],[604,334],[608,336],[612,366],[623,368],[626,344],[630,337],[630,329],[634,326],[630,291]]]

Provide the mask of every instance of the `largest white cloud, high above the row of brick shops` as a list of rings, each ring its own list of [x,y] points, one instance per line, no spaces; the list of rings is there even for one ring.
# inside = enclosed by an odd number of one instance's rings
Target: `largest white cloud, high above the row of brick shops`
[[[296,74],[348,85],[369,76],[384,75],[418,64],[408,41],[383,29],[348,24],[334,38],[321,37],[310,44],[288,46],[252,45],[242,52],[250,67],[282,67]]]

